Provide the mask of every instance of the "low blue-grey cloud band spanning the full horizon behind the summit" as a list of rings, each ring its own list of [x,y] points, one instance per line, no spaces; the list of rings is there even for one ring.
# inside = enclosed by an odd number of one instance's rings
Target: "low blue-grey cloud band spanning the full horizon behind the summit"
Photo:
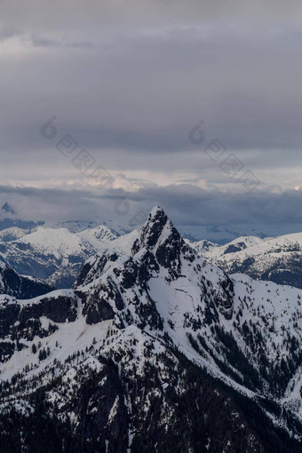
[[[129,203],[129,211],[120,215],[116,202]],[[120,190],[89,192],[30,187],[0,187],[0,204],[8,202],[17,217],[26,220],[78,220],[96,222],[115,220],[119,224],[142,223],[155,205],[161,205],[176,226],[277,225],[278,232],[302,227],[302,191],[272,194],[208,192],[199,187],[179,185],[141,189],[131,194]],[[119,204],[119,206],[122,206]],[[123,206],[122,206],[123,207]],[[140,220],[140,221],[139,221]],[[295,226],[294,228],[292,226]],[[135,225],[133,225],[135,227]]]

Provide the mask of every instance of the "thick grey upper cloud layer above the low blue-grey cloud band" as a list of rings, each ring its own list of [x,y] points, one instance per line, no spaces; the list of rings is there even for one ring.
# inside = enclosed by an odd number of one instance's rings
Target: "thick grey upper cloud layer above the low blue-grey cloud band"
[[[203,119],[205,140],[219,138],[267,184],[272,169],[283,187],[299,184],[298,2],[11,0],[1,10],[4,182],[81,179],[39,134],[56,115],[110,171],[227,185],[187,139]]]

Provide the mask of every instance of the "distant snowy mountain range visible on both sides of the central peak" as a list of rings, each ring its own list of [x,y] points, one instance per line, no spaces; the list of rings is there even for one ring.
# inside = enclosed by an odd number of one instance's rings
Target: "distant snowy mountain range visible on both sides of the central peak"
[[[117,232],[107,225],[83,221],[60,222],[52,227],[35,222],[20,225],[0,231],[0,258],[20,274],[42,278],[56,288],[71,287],[87,258],[114,244],[118,246],[137,231],[130,234],[125,229],[127,234],[122,234],[121,228]],[[227,274],[242,273],[302,288],[302,234],[242,236],[223,245],[208,240],[187,241]]]

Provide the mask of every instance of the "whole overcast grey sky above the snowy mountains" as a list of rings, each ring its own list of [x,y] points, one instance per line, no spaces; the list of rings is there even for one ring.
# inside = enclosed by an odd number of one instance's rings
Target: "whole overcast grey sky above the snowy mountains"
[[[232,207],[203,223],[254,221],[247,200],[300,221],[301,48],[299,1],[0,1],[0,202],[55,216],[60,193],[58,216],[109,219],[121,196],[179,199],[190,223],[209,197]]]

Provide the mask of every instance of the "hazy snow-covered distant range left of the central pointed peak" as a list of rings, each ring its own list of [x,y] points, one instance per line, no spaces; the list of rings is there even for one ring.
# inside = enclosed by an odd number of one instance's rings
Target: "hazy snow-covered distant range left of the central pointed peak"
[[[42,278],[56,288],[68,288],[76,281],[85,259],[100,250],[103,242],[116,237],[105,226],[79,233],[47,227],[28,233],[11,227],[0,232],[0,258],[20,274]]]

